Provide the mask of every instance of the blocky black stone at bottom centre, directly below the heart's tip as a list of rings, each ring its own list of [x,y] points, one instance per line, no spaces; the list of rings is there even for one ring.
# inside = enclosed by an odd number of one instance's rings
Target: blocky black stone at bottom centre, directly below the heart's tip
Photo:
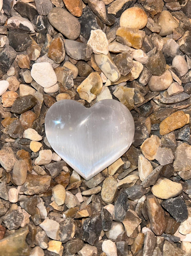
[[[99,241],[99,237],[101,234],[101,218],[100,216],[96,216],[92,219],[86,219],[83,222],[83,241],[94,245]]]

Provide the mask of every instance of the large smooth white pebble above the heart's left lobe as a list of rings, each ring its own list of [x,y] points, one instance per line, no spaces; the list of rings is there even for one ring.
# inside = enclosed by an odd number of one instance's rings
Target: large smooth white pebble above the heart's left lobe
[[[34,63],[31,69],[31,76],[43,88],[49,88],[56,84],[57,77],[50,63]]]

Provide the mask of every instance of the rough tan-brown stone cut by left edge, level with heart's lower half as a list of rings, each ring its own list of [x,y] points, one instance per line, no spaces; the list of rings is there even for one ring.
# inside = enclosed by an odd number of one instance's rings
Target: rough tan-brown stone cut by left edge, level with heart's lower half
[[[5,143],[0,150],[1,166],[6,170],[6,172],[10,172],[11,170],[13,170],[13,167],[16,161],[17,161],[17,158],[15,157],[15,154],[11,147],[10,142]]]

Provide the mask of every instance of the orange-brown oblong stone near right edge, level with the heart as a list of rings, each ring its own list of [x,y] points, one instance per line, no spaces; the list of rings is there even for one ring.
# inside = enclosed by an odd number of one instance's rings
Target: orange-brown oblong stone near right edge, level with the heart
[[[183,111],[177,111],[165,118],[160,123],[160,134],[164,135],[183,127],[187,122],[187,116]]]

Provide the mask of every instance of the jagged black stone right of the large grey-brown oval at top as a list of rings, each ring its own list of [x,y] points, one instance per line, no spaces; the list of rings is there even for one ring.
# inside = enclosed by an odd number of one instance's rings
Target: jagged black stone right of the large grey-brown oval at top
[[[78,18],[80,22],[81,29],[80,35],[85,39],[90,38],[91,30],[101,29],[104,27],[104,24],[101,20],[92,12],[89,6],[83,9],[82,16]]]

